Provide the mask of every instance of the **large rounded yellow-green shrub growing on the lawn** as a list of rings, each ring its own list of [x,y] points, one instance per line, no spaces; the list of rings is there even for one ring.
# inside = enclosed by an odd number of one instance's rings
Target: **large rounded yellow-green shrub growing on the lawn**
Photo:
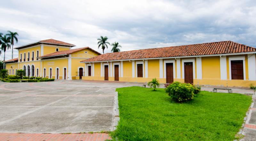
[[[165,91],[175,102],[187,102],[194,98],[195,87],[189,83],[173,82]]]

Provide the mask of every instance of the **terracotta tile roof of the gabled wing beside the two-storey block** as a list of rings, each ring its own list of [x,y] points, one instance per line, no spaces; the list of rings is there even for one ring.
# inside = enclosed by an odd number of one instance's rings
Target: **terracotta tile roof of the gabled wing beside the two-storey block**
[[[76,49],[69,49],[69,50],[64,50],[64,51],[59,51],[59,52],[54,52],[54,53],[50,53],[50,54],[46,54],[44,56],[40,56],[38,58],[43,58],[43,57],[51,57],[51,56],[59,56],[59,55],[68,55],[68,54],[71,54],[71,53],[75,53],[77,51],[81,51],[81,50],[84,50],[84,49],[90,49],[91,51],[97,53],[100,55],[99,52],[93,50],[92,48],[90,47],[82,47],[82,48],[76,48]]]

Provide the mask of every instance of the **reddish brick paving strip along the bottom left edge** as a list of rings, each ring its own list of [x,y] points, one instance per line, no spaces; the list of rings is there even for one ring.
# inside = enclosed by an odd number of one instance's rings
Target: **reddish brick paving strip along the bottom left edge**
[[[0,141],[105,141],[111,139],[107,133],[82,134],[33,134],[0,133]]]

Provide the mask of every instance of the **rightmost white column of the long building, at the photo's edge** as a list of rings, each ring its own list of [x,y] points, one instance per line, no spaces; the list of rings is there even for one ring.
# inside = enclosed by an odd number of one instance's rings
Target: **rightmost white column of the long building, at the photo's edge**
[[[256,62],[255,54],[248,54],[248,78],[249,80],[256,80]]]

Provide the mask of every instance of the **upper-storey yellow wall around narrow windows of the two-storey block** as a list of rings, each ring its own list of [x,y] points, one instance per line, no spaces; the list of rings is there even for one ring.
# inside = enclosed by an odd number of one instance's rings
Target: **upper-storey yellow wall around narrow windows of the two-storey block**
[[[40,53],[41,53],[41,46],[36,46],[36,47],[32,47],[32,48],[28,48],[28,49],[22,49],[22,50],[19,50],[19,62],[20,62],[20,53],[22,53],[22,60],[21,62],[23,62],[24,60],[24,53],[26,53],[26,61],[28,61],[28,52],[29,52],[29,61],[32,60],[32,52],[34,51],[34,60],[36,60],[36,51],[39,51],[39,56],[40,56]]]

